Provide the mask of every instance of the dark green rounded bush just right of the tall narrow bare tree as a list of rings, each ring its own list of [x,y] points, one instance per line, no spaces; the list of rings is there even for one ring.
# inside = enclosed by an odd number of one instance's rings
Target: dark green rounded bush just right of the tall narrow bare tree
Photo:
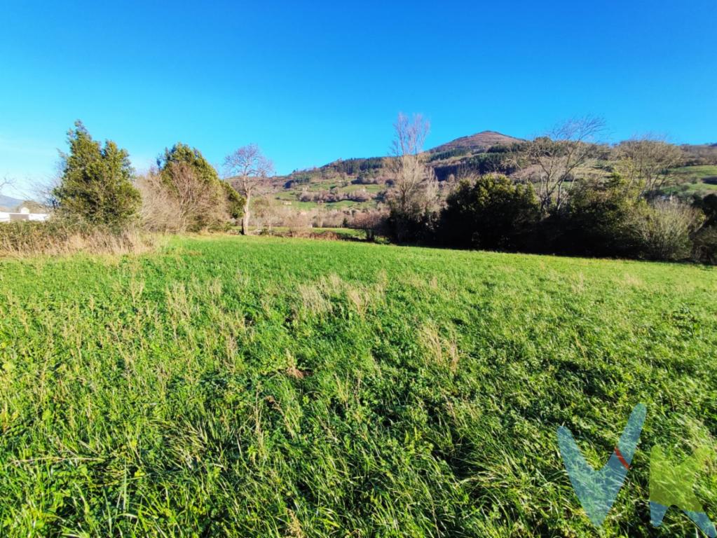
[[[474,249],[518,249],[538,221],[539,206],[531,186],[505,176],[460,181],[440,215],[443,244]]]

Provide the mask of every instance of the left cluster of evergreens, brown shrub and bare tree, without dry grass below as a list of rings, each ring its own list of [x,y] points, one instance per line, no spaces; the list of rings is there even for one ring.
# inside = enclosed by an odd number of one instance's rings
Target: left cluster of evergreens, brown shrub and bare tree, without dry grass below
[[[227,155],[222,179],[198,149],[184,143],[166,148],[156,166],[138,176],[126,150],[93,140],[80,121],[67,142],[50,204],[60,218],[113,230],[139,224],[149,231],[201,231],[240,221],[245,233],[248,204],[272,172],[255,144]]]

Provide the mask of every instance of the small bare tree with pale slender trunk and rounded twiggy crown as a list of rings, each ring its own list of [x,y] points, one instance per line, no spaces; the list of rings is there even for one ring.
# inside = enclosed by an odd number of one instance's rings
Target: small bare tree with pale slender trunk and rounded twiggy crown
[[[274,171],[274,165],[256,144],[245,145],[224,159],[224,172],[228,181],[244,196],[242,235],[249,232],[250,204],[262,181]]]

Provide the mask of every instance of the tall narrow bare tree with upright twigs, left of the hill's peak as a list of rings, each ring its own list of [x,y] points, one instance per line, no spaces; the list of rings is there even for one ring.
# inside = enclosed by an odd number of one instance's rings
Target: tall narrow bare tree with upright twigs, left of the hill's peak
[[[409,118],[401,113],[394,123],[393,156],[389,160],[394,183],[388,200],[397,221],[412,221],[435,209],[438,182],[422,153],[428,131],[428,121],[419,114]],[[399,239],[402,233],[401,229],[397,230]]]

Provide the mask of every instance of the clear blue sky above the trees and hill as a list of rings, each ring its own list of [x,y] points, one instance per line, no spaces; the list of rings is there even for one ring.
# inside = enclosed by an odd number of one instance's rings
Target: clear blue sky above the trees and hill
[[[7,1],[0,178],[47,181],[80,118],[146,168],[258,143],[278,173],[384,155],[397,112],[427,145],[528,138],[599,115],[606,138],[717,142],[717,2]]]

